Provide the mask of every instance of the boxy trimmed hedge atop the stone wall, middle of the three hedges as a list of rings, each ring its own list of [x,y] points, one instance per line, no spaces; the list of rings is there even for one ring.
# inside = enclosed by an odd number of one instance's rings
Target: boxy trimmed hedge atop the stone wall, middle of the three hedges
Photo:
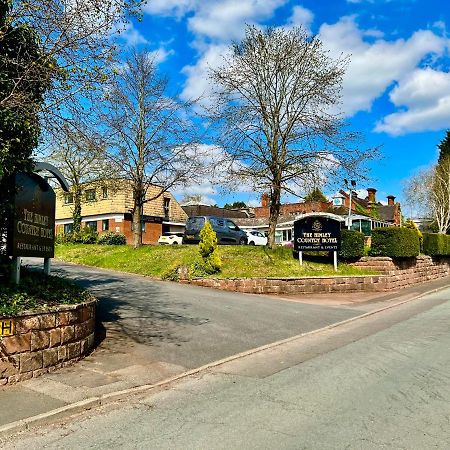
[[[371,256],[412,258],[420,253],[419,236],[405,227],[375,228],[372,230]]]

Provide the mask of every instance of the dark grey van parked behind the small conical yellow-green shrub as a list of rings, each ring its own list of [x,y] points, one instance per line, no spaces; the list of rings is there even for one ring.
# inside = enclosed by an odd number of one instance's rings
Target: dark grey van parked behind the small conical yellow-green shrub
[[[247,244],[247,233],[241,230],[232,220],[217,216],[194,216],[189,217],[184,232],[184,244],[197,244],[200,242],[200,231],[208,221],[216,232],[219,244],[245,245]]]

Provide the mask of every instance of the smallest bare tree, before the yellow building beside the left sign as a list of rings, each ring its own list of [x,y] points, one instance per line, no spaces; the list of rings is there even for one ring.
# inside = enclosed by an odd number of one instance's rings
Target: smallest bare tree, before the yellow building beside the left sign
[[[61,170],[71,186],[73,231],[79,231],[83,188],[110,184],[115,168],[106,156],[104,139],[90,125],[66,122],[54,138],[46,159]]]

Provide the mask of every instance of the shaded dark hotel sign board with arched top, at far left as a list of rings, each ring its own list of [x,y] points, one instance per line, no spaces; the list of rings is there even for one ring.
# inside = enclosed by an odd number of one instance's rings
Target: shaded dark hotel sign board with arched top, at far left
[[[8,232],[11,256],[53,258],[55,251],[55,193],[33,173],[16,175],[14,216]]]

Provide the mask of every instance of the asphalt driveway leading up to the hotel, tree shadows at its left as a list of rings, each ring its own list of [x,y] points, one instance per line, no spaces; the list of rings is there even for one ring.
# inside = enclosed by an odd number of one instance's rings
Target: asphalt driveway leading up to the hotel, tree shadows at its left
[[[149,358],[185,369],[361,314],[59,262],[53,271],[97,296],[109,351],[138,343],[141,355],[146,346]]]

